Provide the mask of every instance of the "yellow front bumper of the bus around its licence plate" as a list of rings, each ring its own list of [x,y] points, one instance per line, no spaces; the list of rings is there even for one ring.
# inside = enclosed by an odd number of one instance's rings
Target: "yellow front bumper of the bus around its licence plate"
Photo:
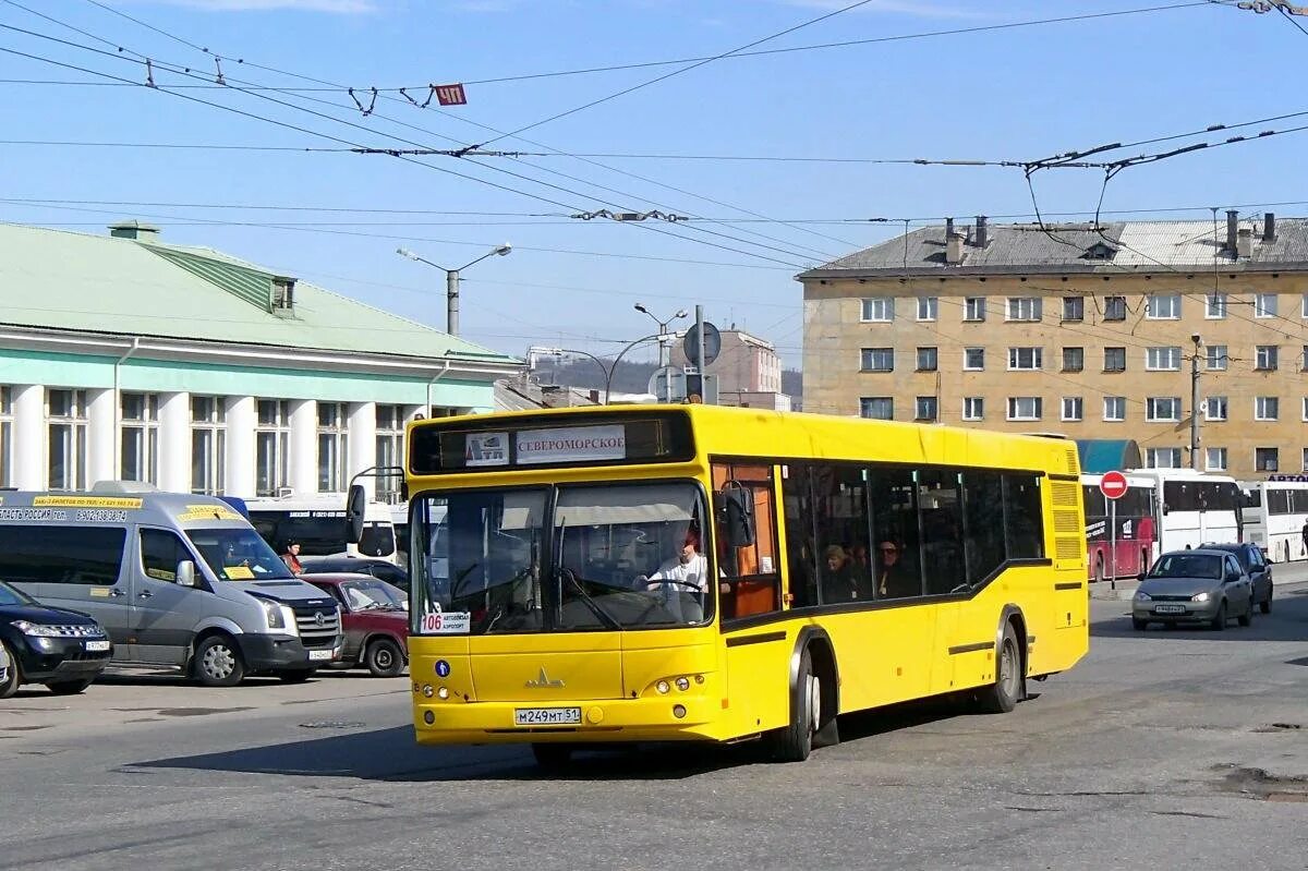
[[[649,698],[530,702],[466,702],[426,698],[417,691],[413,726],[420,744],[519,744],[719,740],[718,698],[668,693]],[[518,726],[518,711],[579,710],[579,723]],[[680,715],[678,715],[680,714]]]

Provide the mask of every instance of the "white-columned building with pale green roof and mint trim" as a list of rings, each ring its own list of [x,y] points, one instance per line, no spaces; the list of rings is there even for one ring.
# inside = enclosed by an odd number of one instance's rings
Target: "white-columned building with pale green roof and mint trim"
[[[0,224],[0,487],[340,492],[519,361],[126,221]],[[381,496],[396,481],[378,481]]]

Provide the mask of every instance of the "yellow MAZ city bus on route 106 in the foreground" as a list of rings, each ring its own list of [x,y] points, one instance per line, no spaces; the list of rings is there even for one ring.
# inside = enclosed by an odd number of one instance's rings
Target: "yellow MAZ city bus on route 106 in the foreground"
[[[1075,446],[708,405],[424,420],[407,438],[417,740],[764,738],[1088,646]]]

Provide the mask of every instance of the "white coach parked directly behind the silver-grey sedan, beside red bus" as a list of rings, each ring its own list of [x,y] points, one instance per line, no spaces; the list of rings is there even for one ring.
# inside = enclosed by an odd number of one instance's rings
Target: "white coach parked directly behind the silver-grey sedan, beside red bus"
[[[1154,483],[1158,553],[1201,544],[1243,541],[1244,494],[1233,477],[1189,468],[1139,468],[1133,477]]]

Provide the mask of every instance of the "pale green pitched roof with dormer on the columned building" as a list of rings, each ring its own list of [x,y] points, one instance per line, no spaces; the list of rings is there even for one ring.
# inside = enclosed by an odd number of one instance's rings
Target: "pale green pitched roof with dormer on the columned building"
[[[129,222],[115,225],[129,228]],[[0,323],[513,364],[416,320],[211,248],[0,224]],[[289,310],[279,306],[293,284]]]

